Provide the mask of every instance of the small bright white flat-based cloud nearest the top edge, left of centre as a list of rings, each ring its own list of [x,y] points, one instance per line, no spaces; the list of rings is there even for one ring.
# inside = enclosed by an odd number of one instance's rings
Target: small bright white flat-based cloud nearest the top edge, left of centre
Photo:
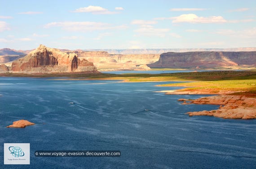
[[[109,11],[106,8],[102,8],[100,6],[88,6],[84,8],[75,9],[75,11],[71,11],[73,13],[93,13],[93,14],[115,14],[116,12]]]

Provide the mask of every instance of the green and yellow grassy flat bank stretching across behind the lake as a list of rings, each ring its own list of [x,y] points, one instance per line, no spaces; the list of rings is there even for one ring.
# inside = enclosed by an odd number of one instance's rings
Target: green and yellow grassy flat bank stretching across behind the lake
[[[193,81],[187,83],[163,84],[161,86],[190,87],[179,91],[204,91],[205,93],[221,93],[234,91],[236,94],[256,96],[256,71],[212,71],[212,72],[180,72],[163,74],[106,74],[106,73],[53,73],[53,74],[21,74],[2,73],[0,76],[10,77],[68,77],[71,80],[125,80],[127,82],[146,81]],[[65,79],[66,80],[66,79]],[[234,94],[235,94],[234,93]]]

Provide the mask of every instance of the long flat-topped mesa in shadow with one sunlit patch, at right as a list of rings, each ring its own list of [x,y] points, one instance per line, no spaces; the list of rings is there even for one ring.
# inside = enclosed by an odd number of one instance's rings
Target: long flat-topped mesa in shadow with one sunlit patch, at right
[[[216,68],[256,64],[256,51],[241,52],[168,52],[160,55],[150,68]]]

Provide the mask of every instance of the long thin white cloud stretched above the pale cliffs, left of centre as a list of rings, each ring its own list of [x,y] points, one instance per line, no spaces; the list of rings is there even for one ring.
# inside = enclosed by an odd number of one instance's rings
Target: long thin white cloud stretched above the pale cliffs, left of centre
[[[88,32],[88,31],[94,31],[94,30],[124,29],[124,28],[127,28],[127,25],[113,26],[113,25],[110,25],[108,23],[90,22],[90,21],[84,21],[84,22],[72,22],[72,21],[51,22],[51,23],[48,23],[48,24],[44,25],[44,28],[50,28],[50,27],[61,27],[63,30],[68,30],[68,31]]]

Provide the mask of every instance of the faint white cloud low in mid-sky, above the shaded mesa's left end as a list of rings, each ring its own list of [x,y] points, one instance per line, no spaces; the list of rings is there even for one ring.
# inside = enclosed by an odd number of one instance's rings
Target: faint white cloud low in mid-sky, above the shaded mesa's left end
[[[134,30],[138,34],[136,36],[159,36],[165,37],[166,33],[169,32],[169,29],[159,29],[151,27],[141,27],[137,30]]]

